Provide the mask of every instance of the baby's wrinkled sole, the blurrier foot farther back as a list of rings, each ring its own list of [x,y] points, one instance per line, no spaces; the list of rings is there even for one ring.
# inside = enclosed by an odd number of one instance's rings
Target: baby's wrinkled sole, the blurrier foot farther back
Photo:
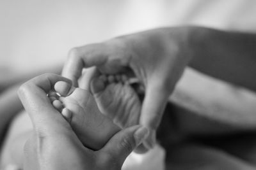
[[[125,75],[101,75],[91,83],[100,111],[119,127],[139,124],[141,102]]]

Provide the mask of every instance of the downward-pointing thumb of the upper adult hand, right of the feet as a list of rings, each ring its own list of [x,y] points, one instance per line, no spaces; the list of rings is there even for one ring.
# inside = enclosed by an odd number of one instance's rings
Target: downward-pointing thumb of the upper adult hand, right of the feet
[[[150,131],[148,138],[143,142],[143,145],[148,149],[153,148],[156,143],[156,130],[161,122],[168,96],[168,93],[159,86],[159,83],[152,82],[148,84],[140,117],[140,124]]]

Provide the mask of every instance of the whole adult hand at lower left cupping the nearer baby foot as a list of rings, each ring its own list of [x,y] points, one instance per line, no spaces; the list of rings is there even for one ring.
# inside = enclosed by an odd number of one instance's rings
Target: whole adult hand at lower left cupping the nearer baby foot
[[[129,127],[116,133],[101,150],[85,148],[47,97],[57,81],[71,83],[56,74],[43,74],[19,89],[34,127],[24,148],[24,169],[121,169],[125,158],[147,135],[147,129]]]

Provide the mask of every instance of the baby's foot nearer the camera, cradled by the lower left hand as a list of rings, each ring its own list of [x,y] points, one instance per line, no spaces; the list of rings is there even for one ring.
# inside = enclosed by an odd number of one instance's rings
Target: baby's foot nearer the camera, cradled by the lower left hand
[[[100,113],[97,103],[87,90],[72,87],[64,81],[58,81],[54,89],[60,97],[51,96],[51,100],[59,98],[52,105],[70,123],[83,145],[99,150],[120,131],[112,120]]]

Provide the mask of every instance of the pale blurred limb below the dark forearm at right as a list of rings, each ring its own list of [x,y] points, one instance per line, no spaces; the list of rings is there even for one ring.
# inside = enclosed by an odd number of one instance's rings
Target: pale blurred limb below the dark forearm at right
[[[187,69],[170,101],[192,111],[198,117],[227,125],[236,131],[256,128],[255,95],[193,70]]]

